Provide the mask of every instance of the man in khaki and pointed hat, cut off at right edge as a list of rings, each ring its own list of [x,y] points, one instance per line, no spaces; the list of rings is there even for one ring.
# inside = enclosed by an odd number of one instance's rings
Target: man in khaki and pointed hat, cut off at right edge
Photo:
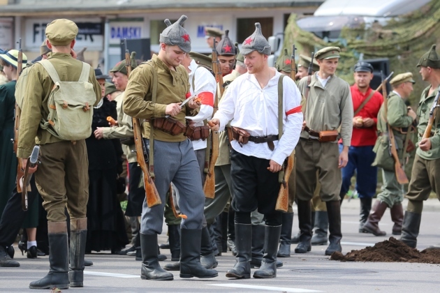
[[[422,219],[423,201],[430,197],[431,191],[437,194],[440,200],[440,133],[439,108],[434,119],[432,133],[429,138],[422,138],[425,133],[432,103],[440,86],[440,58],[436,45],[426,52],[417,67],[420,67],[422,79],[430,85],[422,92],[418,103],[418,147],[414,158],[411,181],[409,181],[406,198],[409,200],[402,225],[402,240],[406,245],[415,248]],[[438,104],[437,104],[438,105]],[[439,245],[435,248],[440,248]]]

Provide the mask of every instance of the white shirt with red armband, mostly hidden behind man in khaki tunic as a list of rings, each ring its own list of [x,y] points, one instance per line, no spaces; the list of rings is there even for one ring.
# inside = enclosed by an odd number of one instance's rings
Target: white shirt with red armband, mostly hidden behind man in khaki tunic
[[[212,112],[214,111],[212,105],[214,104],[215,92],[217,91],[217,82],[212,73],[210,73],[210,70],[199,67],[194,60],[191,60],[189,70],[191,70],[189,73],[191,96],[201,94],[201,96],[206,98],[202,98],[202,105],[200,105],[200,110],[196,116],[185,118],[196,122],[194,126],[203,126],[203,120],[211,120]],[[193,89],[193,78],[195,89]],[[211,95],[212,100],[210,100]],[[206,149],[206,140],[193,140],[193,149],[194,151]]]

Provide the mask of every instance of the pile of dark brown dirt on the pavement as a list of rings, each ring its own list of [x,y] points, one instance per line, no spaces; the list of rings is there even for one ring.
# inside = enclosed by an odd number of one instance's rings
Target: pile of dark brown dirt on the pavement
[[[361,250],[351,250],[343,255],[335,252],[330,260],[341,262],[420,262],[425,264],[440,264],[440,249],[425,249],[406,246],[402,241],[390,237],[389,240],[376,243]]]

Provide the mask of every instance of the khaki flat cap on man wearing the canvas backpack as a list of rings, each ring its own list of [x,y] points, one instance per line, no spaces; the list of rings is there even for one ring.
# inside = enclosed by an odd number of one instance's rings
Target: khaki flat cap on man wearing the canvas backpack
[[[71,20],[54,20],[46,27],[46,38],[54,46],[69,45],[72,40],[75,40],[76,35],[78,35],[78,27]]]

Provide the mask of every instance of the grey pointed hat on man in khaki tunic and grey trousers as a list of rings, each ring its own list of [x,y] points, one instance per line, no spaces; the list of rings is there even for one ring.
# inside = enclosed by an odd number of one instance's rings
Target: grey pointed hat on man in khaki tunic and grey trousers
[[[185,53],[191,51],[191,38],[189,38],[186,29],[182,27],[182,24],[187,18],[186,15],[182,15],[179,20],[173,24],[171,24],[170,20],[165,20],[167,28],[162,31],[159,42],[170,46],[177,45]]]

